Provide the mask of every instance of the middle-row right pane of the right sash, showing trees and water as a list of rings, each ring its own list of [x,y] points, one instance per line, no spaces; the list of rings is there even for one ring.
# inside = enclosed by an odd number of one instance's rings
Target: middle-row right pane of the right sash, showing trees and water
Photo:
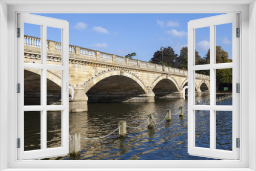
[[[216,70],[216,105],[232,105],[232,69]]]

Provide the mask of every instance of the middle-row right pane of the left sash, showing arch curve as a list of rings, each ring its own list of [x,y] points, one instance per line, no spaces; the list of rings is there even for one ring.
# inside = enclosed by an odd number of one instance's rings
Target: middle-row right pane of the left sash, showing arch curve
[[[47,70],[47,105],[61,105],[62,71]]]

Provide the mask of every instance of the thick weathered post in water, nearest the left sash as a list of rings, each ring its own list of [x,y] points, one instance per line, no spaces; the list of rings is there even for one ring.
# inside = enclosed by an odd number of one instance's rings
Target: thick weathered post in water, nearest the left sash
[[[70,144],[69,144],[69,154],[70,156],[80,156],[81,149],[80,149],[80,133],[79,132],[72,132],[70,134]]]

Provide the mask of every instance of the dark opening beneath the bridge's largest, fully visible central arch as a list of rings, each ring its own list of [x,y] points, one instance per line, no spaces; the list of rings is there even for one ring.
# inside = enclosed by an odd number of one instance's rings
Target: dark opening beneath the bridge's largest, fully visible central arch
[[[135,80],[121,75],[106,77],[91,87],[88,102],[147,102],[145,91]]]

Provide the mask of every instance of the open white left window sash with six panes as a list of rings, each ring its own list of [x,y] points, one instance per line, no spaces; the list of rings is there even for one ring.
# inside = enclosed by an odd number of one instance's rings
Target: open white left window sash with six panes
[[[17,38],[17,83],[20,83],[20,93],[17,94],[17,138],[20,138],[20,148],[17,148],[17,159],[40,159],[52,156],[65,156],[69,153],[69,23],[66,20],[53,19],[33,14],[17,14],[17,26],[20,28],[20,37]],[[24,56],[24,24],[29,23],[40,27],[41,35],[41,62],[25,63]],[[58,28],[61,31],[61,65],[47,63],[47,28]],[[24,105],[24,70],[40,70],[40,105]],[[47,105],[47,71],[61,72],[61,104]],[[47,148],[47,111],[61,111],[61,146]],[[40,149],[25,151],[24,145],[24,116],[26,111],[40,112]]]

